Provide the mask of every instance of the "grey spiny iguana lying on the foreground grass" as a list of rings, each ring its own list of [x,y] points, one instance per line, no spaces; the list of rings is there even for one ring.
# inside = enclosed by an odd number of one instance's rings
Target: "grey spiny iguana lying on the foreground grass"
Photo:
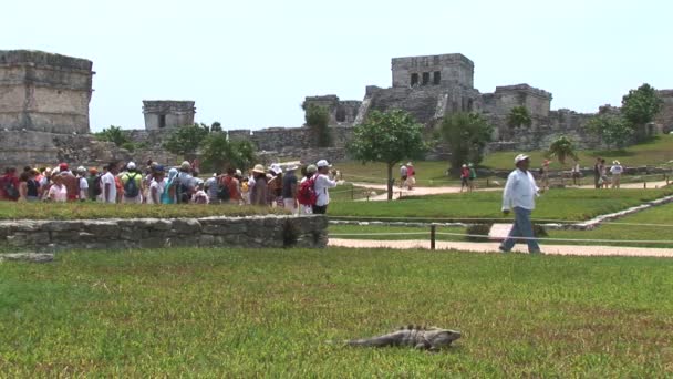
[[[387,335],[346,340],[349,346],[367,346],[367,347],[385,347],[385,346],[413,346],[416,349],[439,350],[447,347],[451,342],[460,338],[460,332],[451,329],[442,329],[437,327],[425,328],[421,326],[410,325],[402,327]]]

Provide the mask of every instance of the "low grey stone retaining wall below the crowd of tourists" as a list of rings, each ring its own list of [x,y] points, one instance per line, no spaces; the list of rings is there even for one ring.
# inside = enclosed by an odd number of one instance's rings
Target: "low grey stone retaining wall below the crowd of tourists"
[[[0,246],[15,250],[162,247],[325,247],[324,216],[252,216],[0,222]]]

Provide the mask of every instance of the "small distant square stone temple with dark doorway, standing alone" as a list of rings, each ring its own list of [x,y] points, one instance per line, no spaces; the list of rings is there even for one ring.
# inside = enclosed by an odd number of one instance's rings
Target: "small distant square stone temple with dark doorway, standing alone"
[[[154,131],[194,124],[193,101],[143,100],[145,130]]]

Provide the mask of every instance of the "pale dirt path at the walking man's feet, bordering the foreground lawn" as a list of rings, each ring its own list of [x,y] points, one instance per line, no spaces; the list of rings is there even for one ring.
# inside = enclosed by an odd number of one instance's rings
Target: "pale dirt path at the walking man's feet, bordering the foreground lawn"
[[[429,248],[429,240],[366,240],[330,238],[329,246],[355,248]],[[540,246],[546,255],[578,255],[578,256],[632,256],[632,257],[666,257],[673,258],[673,248],[646,248],[621,246],[581,246],[581,245],[545,245]],[[497,243],[442,242],[437,240],[437,249],[456,249],[476,253],[497,253]],[[527,253],[526,245],[518,244],[514,252]]]

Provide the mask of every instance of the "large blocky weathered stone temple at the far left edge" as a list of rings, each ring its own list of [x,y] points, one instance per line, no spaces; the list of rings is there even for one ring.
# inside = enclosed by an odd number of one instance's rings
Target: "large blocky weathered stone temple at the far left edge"
[[[89,133],[92,64],[42,51],[0,51],[0,130]]]

